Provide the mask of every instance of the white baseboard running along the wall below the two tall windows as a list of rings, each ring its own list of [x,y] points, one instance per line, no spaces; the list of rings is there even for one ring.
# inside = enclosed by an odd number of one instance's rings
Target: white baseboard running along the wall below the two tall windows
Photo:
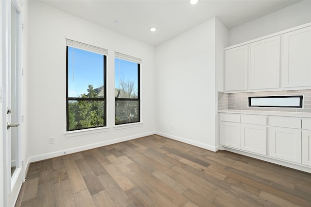
[[[136,138],[146,137],[146,136],[150,136],[150,135],[154,135],[154,134],[156,134],[156,132],[152,131],[152,132],[142,133],[142,134],[133,135],[133,136],[129,136],[129,137],[116,138],[116,139],[98,142],[98,143],[94,143],[94,144],[84,145],[81,147],[64,149],[64,150],[60,150],[60,151],[56,151],[56,152],[52,152],[52,153],[30,156],[30,157],[28,157],[27,162],[25,163],[25,166],[26,166],[25,175],[27,174],[30,163],[32,163],[32,162],[50,159],[50,158],[62,156],[62,155],[78,153],[81,151],[90,150],[90,149],[94,149],[97,147],[103,147],[103,146],[110,145],[110,144],[116,144],[116,143],[120,143],[123,141],[128,141],[128,140],[132,140],[132,139],[136,139]]]

